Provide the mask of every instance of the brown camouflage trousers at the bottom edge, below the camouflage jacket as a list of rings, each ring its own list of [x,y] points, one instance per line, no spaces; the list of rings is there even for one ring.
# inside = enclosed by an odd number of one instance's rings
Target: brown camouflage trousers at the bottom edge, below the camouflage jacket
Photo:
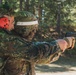
[[[21,58],[10,58],[1,69],[0,75],[35,75],[35,64]]]

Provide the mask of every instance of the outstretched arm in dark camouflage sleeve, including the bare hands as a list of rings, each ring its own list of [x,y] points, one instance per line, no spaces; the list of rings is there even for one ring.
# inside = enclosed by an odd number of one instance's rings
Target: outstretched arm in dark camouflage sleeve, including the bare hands
[[[75,38],[66,37],[66,39],[57,39],[51,42],[36,42],[31,49],[27,50],[27,59],[40,64],[58,60],[63,52],[74,47]]]

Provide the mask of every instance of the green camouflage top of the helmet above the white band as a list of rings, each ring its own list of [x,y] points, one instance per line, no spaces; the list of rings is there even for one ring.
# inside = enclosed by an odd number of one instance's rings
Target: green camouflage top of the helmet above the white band
[[[16,22],[18,21],[35,21],[37,20],[36,16],[33,15],[32,13],[28,12],[28,11],[18,11],[15,13],[15,20]]]

